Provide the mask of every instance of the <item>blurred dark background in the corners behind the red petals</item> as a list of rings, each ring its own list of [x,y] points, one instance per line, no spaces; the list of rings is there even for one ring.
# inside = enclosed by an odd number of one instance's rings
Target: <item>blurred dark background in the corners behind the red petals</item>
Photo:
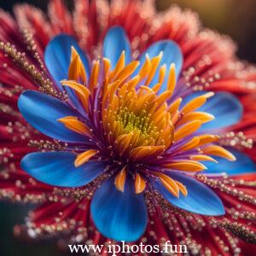
[[[66,0],[66,2],[72,8],[73,0]],[[32,3],[46,10],[48,1],[0,0],[0,8],[11,12],[15,3]],[[237,55],[241,59],[256,63],[255,0],[156,0],[156,8],[165,10],[173,3],[183,9],[195,10],[199,14],[203,26],[230,35],[238,45]],[[49,241],[27,243],[14,238],[14,225],[22,223],[26,212],[31,208],[32,206],[22,207],[0,203],[0,255],[65,256],[66,253],[56,250]]]

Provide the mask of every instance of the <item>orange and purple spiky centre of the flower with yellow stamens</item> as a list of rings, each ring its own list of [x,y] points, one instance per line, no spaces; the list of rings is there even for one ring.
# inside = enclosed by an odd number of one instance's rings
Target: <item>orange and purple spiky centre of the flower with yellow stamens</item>
[[[166,175],[165,170],[200,172],[206,168],[201,160],[215,161],[209,154],[229,160],[235,157],[211,144],[218,141],[218,136],[193,136],[202,124],[214,118],[212,114],[195,111],[213,93],[195,97],[180,108],[182,98],[173,98],[175,66],[172,64],[166,72],[166,65],[160,65],[161,57],[161,52],[152,59],[146,55],[142,66],[139,67],[139,61],[125,66],[123,52],[113,70],[110,61],[103,58],[93,62],[87,80],[79,55],[73,49],[69,80],[61,84],[71,87],[79,96],[90,128],[76,117],[67,116],[59,121],[104,145],[79,152],[75,166],[94,160],[96,155],[106,156],[106,150],[110,150],[108,160],[122,163],[115,177],[115,186],[120,191],[124,190],[126,172],[131,172],[137,193],[145,189],[147,178],[156,177],[172,195],[178,196],[179,191],[186,195],[183,184]],[[152,84],[157,70],[158,81]],[[165,90],[160,93],[163,86]]]

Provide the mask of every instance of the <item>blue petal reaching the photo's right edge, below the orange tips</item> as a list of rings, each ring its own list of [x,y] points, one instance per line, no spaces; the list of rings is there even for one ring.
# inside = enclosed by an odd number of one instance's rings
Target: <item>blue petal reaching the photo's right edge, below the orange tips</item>
[[[247,154],[241,153],[236,149],[228,148],[228,150],[236,156],[236,161],[231,162],[225,160],[221,157],[214,157],[218,163],[213,163],[205,161],[204,165],[207,166],[206,173],[227,173],[230,175],[244,174],[244,173],[254,173],[256,171],[256,166],[253,160]]]

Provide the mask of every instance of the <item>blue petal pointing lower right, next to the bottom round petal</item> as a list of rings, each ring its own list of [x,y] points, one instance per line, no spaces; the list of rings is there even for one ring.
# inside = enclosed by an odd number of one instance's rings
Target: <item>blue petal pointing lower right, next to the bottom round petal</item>
[[[189,212],[195,212],[203,215],[218,216],[224,214],[224,206],[212,189],[205,184],[198,182],[195,178],[177,172],[166,173],[174,180],[183,183],[188,190],[188,195],[179,193],[179,197],[173,196],[160,181],[154,182],[154,187],[163,195],[172,205],[182,208]]]

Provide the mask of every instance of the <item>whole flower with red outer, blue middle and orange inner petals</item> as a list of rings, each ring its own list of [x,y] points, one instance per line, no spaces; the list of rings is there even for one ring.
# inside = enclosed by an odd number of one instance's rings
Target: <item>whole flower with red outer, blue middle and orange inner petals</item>
[[[242,151],[253,140],[239,129],[255,129],[253,108],[241,104],[254,90],[253,68],[237,64],[228,39],[199,32],[190,12],[174,8],[151,22],[150,3],[125,4],[124,15],[118,2],[77,1],[72,26],[64,5],[52,1],[44,27],[38,10],[19,6],[26,41],[17,49],[7,42],[19,42],[20,32],[2,13],[9,147],[1,194],[44,202],[27,223],[30,236],[68,230],[74,241],[171,240],[192,253],[250,251],[244,241],[255,242],[247,222],[255,218],[255,166]],[[16,79],[25,91],[11,87]],[[11,109],[20,91],[20,113],[35,129]],[[27,141],[41,152],[30,153]]]

